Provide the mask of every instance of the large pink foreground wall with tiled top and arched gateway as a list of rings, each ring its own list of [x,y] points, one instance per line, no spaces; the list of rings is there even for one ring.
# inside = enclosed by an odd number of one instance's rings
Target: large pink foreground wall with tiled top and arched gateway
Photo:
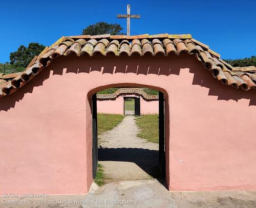
[[[0,74],[0,192],[88,192],[91,99],[110,87],[164,94],[169,190],[255,189],[255,72],[190,35],[62,37]]]

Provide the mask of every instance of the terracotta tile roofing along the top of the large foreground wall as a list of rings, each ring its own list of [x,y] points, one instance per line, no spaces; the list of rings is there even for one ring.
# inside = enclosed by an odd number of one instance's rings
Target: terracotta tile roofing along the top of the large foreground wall
[[[97,40],[96,40],[97,39]],[[110,34],[90,36],[61,37],[50,47],[46,47],[38,57],[35,57],[25,71],[15,74],[0,74],[0,97],[12,93],[44,70],[59,56],[71,53],[77,56],[168,56],[181,53],[194,54],[212,75],[223,84],[244,90],[256,88],[256,67],[232,67],[220,59],[220,55],[212,51],[208,45],[191,37],[183,35],[136,35],[111,36]]]

